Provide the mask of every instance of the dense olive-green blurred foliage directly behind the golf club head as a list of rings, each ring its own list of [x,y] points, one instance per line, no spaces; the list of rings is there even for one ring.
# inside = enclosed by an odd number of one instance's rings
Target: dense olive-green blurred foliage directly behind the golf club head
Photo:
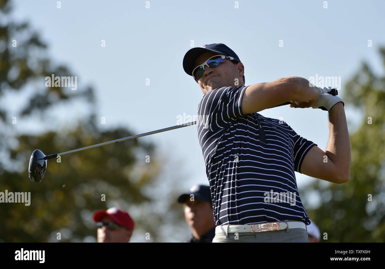
[[[3,192],[30,192],[31,204],[2,204],[5,210],[0,215],[6,221],[0,224],[0,238],[6,242],[55,241],[50,238],[52,232],[67,228],[71,235],[62,238],[62,241],[77,241],[86,235],[95,235],[90,216],[96,209],[106,209],[108,201],[130,206],[150,201],[141,193],[141,188],[152,181],[159,167],[156,162],[147,163],[147,166],[143,165],[145,169],[142,173],[132,175],[134,166],[140,165],[135,151],[142,147],[149,150],[149,155],[152,154],[151,147],[138,145],[136,140],[63,155],[60,163],[51,159],[42,182],[34,183],[28,179],[27,156],[35,148],[47,154],[59,153],[129,135],[132,134],[120,129],[101,132],[98,138],[94,138],[79,127],[62,138],[58,138],[57,133],[45,133],[39,137],[20,136],[20,145],[12,154],[24,156],[22,172],[5,171],[1,185]],[[36,143],[30,143],[31,138],[36,138]],[[67,145],[68,141],[72,141],[71,147]],[[131,177],[136,178],[135,182],[130,180]],[[102,194],[107,202],[101,200]]]

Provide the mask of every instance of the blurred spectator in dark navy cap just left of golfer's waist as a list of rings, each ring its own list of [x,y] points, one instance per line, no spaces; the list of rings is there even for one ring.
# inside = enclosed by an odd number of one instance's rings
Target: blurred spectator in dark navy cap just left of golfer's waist
[[[188,193],[179,196],[178,202],[184,203],[184,217],[192,230],[191,239],[187,242],[212,242],[215,236],[215,223],[210,187],[195,185]]]

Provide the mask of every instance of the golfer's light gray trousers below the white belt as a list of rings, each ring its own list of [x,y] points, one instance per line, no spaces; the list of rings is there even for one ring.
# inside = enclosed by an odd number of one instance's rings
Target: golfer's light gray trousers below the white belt
[[[215,234],[213,243],[309,243],[306,230],[301,228],[289,229],[269,232],[240,232],[238,235],[234,233]]]

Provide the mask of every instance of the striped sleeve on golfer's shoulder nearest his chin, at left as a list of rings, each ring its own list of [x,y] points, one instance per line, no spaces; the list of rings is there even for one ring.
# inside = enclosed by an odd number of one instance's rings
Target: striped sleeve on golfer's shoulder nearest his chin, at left
[[[245,86],[222,87],[207,92],[199,103],[198,124],[214,130],[243,117],[241,100],[245,89]]]

